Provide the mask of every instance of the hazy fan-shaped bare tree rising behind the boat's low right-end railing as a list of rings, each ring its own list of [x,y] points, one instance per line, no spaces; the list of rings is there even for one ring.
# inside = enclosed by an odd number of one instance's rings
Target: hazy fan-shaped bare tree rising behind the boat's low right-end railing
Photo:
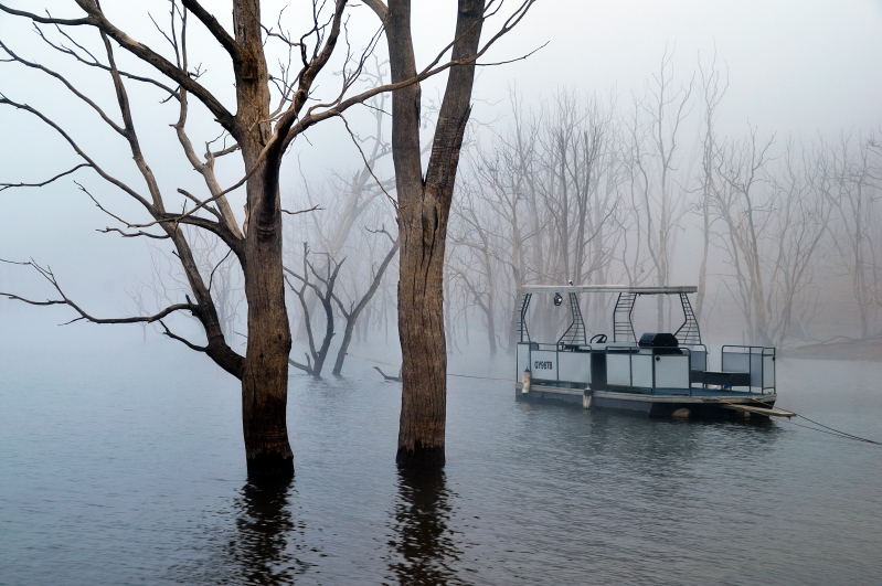
[[[776,172],[773,141],[759,142],[752,129],[747,139],[721,146],[713,211],[725,225],[722,247],[751,340],[782,345],[815,276],[828,206],[817,189],[816,161],[788,141]]]

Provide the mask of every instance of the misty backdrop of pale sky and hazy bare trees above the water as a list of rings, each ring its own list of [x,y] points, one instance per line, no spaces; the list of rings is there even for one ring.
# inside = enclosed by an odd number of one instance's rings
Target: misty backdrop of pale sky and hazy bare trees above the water
[[[266,19],[281,6],[268,6]],[[454,21],[446,8],[421,7],[415,14],[418,63],[429,61],[449,38]],[[222,3],[217,9],[226,17]],[[53,14],[64,10],[59,2]],[[162,46],[145,12],[161,25],[164,3],[108,10],[123,29]],[[355,47],[375,32],[368,9],[361,10],[370,26],[350,23]],[[49,54],[32,31],[12,24],[0,17],[0,35],[10,49],[35,61]],[[204,33],[198,26],[191,30],[191,61],[206,72],[208,85],[216,79],[217,93],[231,99],[232,87],[221,85],[226,72],[205,49],[211,43],[199,42]],[[448,351],[504,353],[511,348],[518,287],[568,279],[700,285],[701,324],[712,340],[787,347],[878,334],[879,31],[879,1],[538,4],[482,61],[538,51],[481,67],[476,81],[447,251]],[[383,53],[381,44],[368,67],[378,77],[387,77]],[[39,104],[108,169],[128,166],[129,174],[120,174],[135,177],[118,137],[104,132],[94,113],[57,99],[64,95],[59,87],[17,64],[4,63],[0,71],[10,98]],[[114,99],[105,75],[86,71],[76,78],[97,102]],[[439,95],[444,81],[442,75],[424,84],[424,97],[431,102]],[[320,87],[332,95],[336,83],[328,75]],[[376,77],[362,83],[371,85]],[[130,92],[140,113],[136,125],[161,184],[171,188],[167,191],[198,189],[200,178],[169,126],[174,107],[159,104],[160,92]],[[320,125],[295,142],[283,168],[284,207],[319,206],[286,220],[286,264],[304,274],[304,243],[318,275],[342,263],[334,289],[339,302],[331,306],[337,333],[329,362],[343,331],[341,308],[365,294],[390,251],[389,236],[395,236],[390,121],[382,98],[373,106],[347,116],[354,138],[340,120]],[[426,109],[428,125],[432,108]],[[202,129],[203,141],[214,139],[204,110],[195,105],[191,110],[193,136]],[[31,116],[0,109],[0,127],[3,181],[42,181],[76,162],[60,137]],[[364,172],[365,158],[373,173]],[[745,190],[750,170],[755,170],[754,182]],[[219,173],[230,184],[241,169],[219,166]],[[97,232],[119,224],[73,179],[113,213],[130,222],[146,219],[87,171],[39,190],[9,189],[0,193],[0,257],[49,265],[68,297],[100,317],[151,312],[180,300],[181,276],[162,243]],[[234,193],[231,203],[244,220],[244,194]],[[753,231],[745,227],[747,220]],[[212,237],[199,249],[203,270],[215,271],[213,291],[229,331],[244,332],[241,276],[230,259],[222,262],[222,247]],[[756,266],[750,266],[752,258],[758,258]],[[357,343],[389,344],[389,352],[379,352],[392,356],[395,265],[393,259],[353,332]],[[316,274],[310,279],[320,286]],[[35,273],[11,265],[0,265],[0,290],[55,297]],[[610,301],[583,307],[589,329],[608,333]],[[325,315],[308,290],[305,303],[318,343]],[[12,301],[0,303],[0,315],[8,334],[34,341],[59,335],[56,324],[74,317],[63,308]],[[294,289],[289,316],[296,332],[291,355],[300,360],[308,342]],[[549,317],[550,330],[566,319]],[[681,318],[666,306],[640,319],[649,330],[676,329]],[[198,335],[187,318],[170,323]],[[73,324],[62,335],[73,339],[156,335],[152,327],[140,326]],[[240,335],[236,341],[245,342]]]

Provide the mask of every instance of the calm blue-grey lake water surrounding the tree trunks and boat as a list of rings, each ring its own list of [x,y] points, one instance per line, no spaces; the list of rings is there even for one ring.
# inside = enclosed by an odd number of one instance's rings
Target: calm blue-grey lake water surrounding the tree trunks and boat
[[[171,342],[66,335],[0,342],[2,584],[882,580],[879,447],[451,379],[445,472],[403,475],[400,386],[351,361],[291,376],[296,478],[257,486],[231,376]],[[779,405],[882,439],[880,380],[779,360]]]

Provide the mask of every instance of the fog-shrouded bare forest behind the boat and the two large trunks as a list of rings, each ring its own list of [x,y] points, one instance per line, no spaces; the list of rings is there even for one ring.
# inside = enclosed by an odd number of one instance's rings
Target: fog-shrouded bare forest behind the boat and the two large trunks
[[[803,137],[745,120],[741,135],[723,135],[725,70],[704,63],[674,76],[671,61],[636,96],[559,89],[524,105],[513,87],[504,114],[474,128],[445,260],[448,352],[511,353],[521,288],[570,281],[698,285],[694,311],[702,327],[713,320],[712,337],[725,329],[785,352],[879,338],[879,128]],[[295,360],[310,372],[333,352],[332,333],[342,351],[351,339],[396,337],[383,130],[379,106],[361,143],[369,168],[302,177],[289,195],[293,207],[326,207],[290,220],[290,234],[309,241],[287,253],[295,347],[309,349]],[[588,302],[587,327],[608,330],[615,296]],[[544,311],[548,338],[568,316]],[[657,331],[681,321],[661,299],[649,316]]]

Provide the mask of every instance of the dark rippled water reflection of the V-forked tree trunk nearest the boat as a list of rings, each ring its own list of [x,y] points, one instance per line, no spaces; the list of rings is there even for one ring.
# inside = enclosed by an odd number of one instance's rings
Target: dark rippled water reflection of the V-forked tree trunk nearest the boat
[[[400,584],[458,584],[451,564],[461,552],[448,528],[451,497],[444,472],[399,471],[390,569]]]

